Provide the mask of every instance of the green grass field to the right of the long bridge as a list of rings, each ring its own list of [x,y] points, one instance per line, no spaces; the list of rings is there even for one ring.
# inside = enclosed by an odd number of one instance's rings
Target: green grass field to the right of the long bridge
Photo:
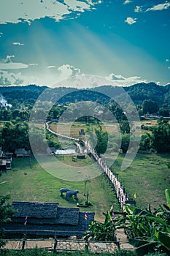
[[[126,170],[120,170],[125,155],[120,154],[112,165],[118,178],[123,182],[128,196],[136,204],[145,208],[148,203],[152,208],[166,203],[165,189],[170,189],[170,154],[137,154]],[[108,161],[112,155],[107,157]]]

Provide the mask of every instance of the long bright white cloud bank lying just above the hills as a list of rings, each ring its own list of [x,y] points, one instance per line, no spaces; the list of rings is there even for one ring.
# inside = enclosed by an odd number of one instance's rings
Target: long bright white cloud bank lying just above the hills
[[[34,66],[34,64],[32,66]],[[135,83],[142,82],[147,83],[146,80],[138,76],[125,78],[123,75],[116,75],[114,73],[108,75],[106,78],[97,75],[85,75],[82,74],[80,69],[70,64],[49,68],[48,73],[42,72],[41,75],[32,76],[23,75],[21,72],[18,72],[17,69],[13,70],[13,72],[10,70],[0,70],[0,86],[37,84],[40,86],[50,86],[52,88],[58,86],[93,88],[102,85],[131,86]]]

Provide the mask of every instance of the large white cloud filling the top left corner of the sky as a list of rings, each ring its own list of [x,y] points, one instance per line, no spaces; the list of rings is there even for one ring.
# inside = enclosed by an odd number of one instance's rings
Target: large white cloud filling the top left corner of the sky
[[[50,17],[55,21],[65,18],[73,18],[77,15],[74,12],[91,10],[100,0],[64,0],[61,1],[40,1],[40,0],[1,0],[0,23],[20,23]],[[9,7],[12,12],[9,12]],[[70,15],[73,15],[72,17]]]

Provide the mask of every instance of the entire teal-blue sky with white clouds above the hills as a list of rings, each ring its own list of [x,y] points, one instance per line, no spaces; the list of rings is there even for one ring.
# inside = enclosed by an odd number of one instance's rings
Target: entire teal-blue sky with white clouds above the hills
[[[0,86],[163,86],[169,42],[170,1],[0,0]]]

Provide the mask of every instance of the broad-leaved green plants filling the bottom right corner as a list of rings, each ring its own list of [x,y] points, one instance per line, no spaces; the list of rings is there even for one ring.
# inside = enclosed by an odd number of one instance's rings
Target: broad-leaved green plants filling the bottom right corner
[[[165,252],[170,255],[170,191],[166,189],[167,205],[154,211],[150,205],[146,210],[125,206],[127,217],[125,229],[131,244],[137,247],[137,255]]]

